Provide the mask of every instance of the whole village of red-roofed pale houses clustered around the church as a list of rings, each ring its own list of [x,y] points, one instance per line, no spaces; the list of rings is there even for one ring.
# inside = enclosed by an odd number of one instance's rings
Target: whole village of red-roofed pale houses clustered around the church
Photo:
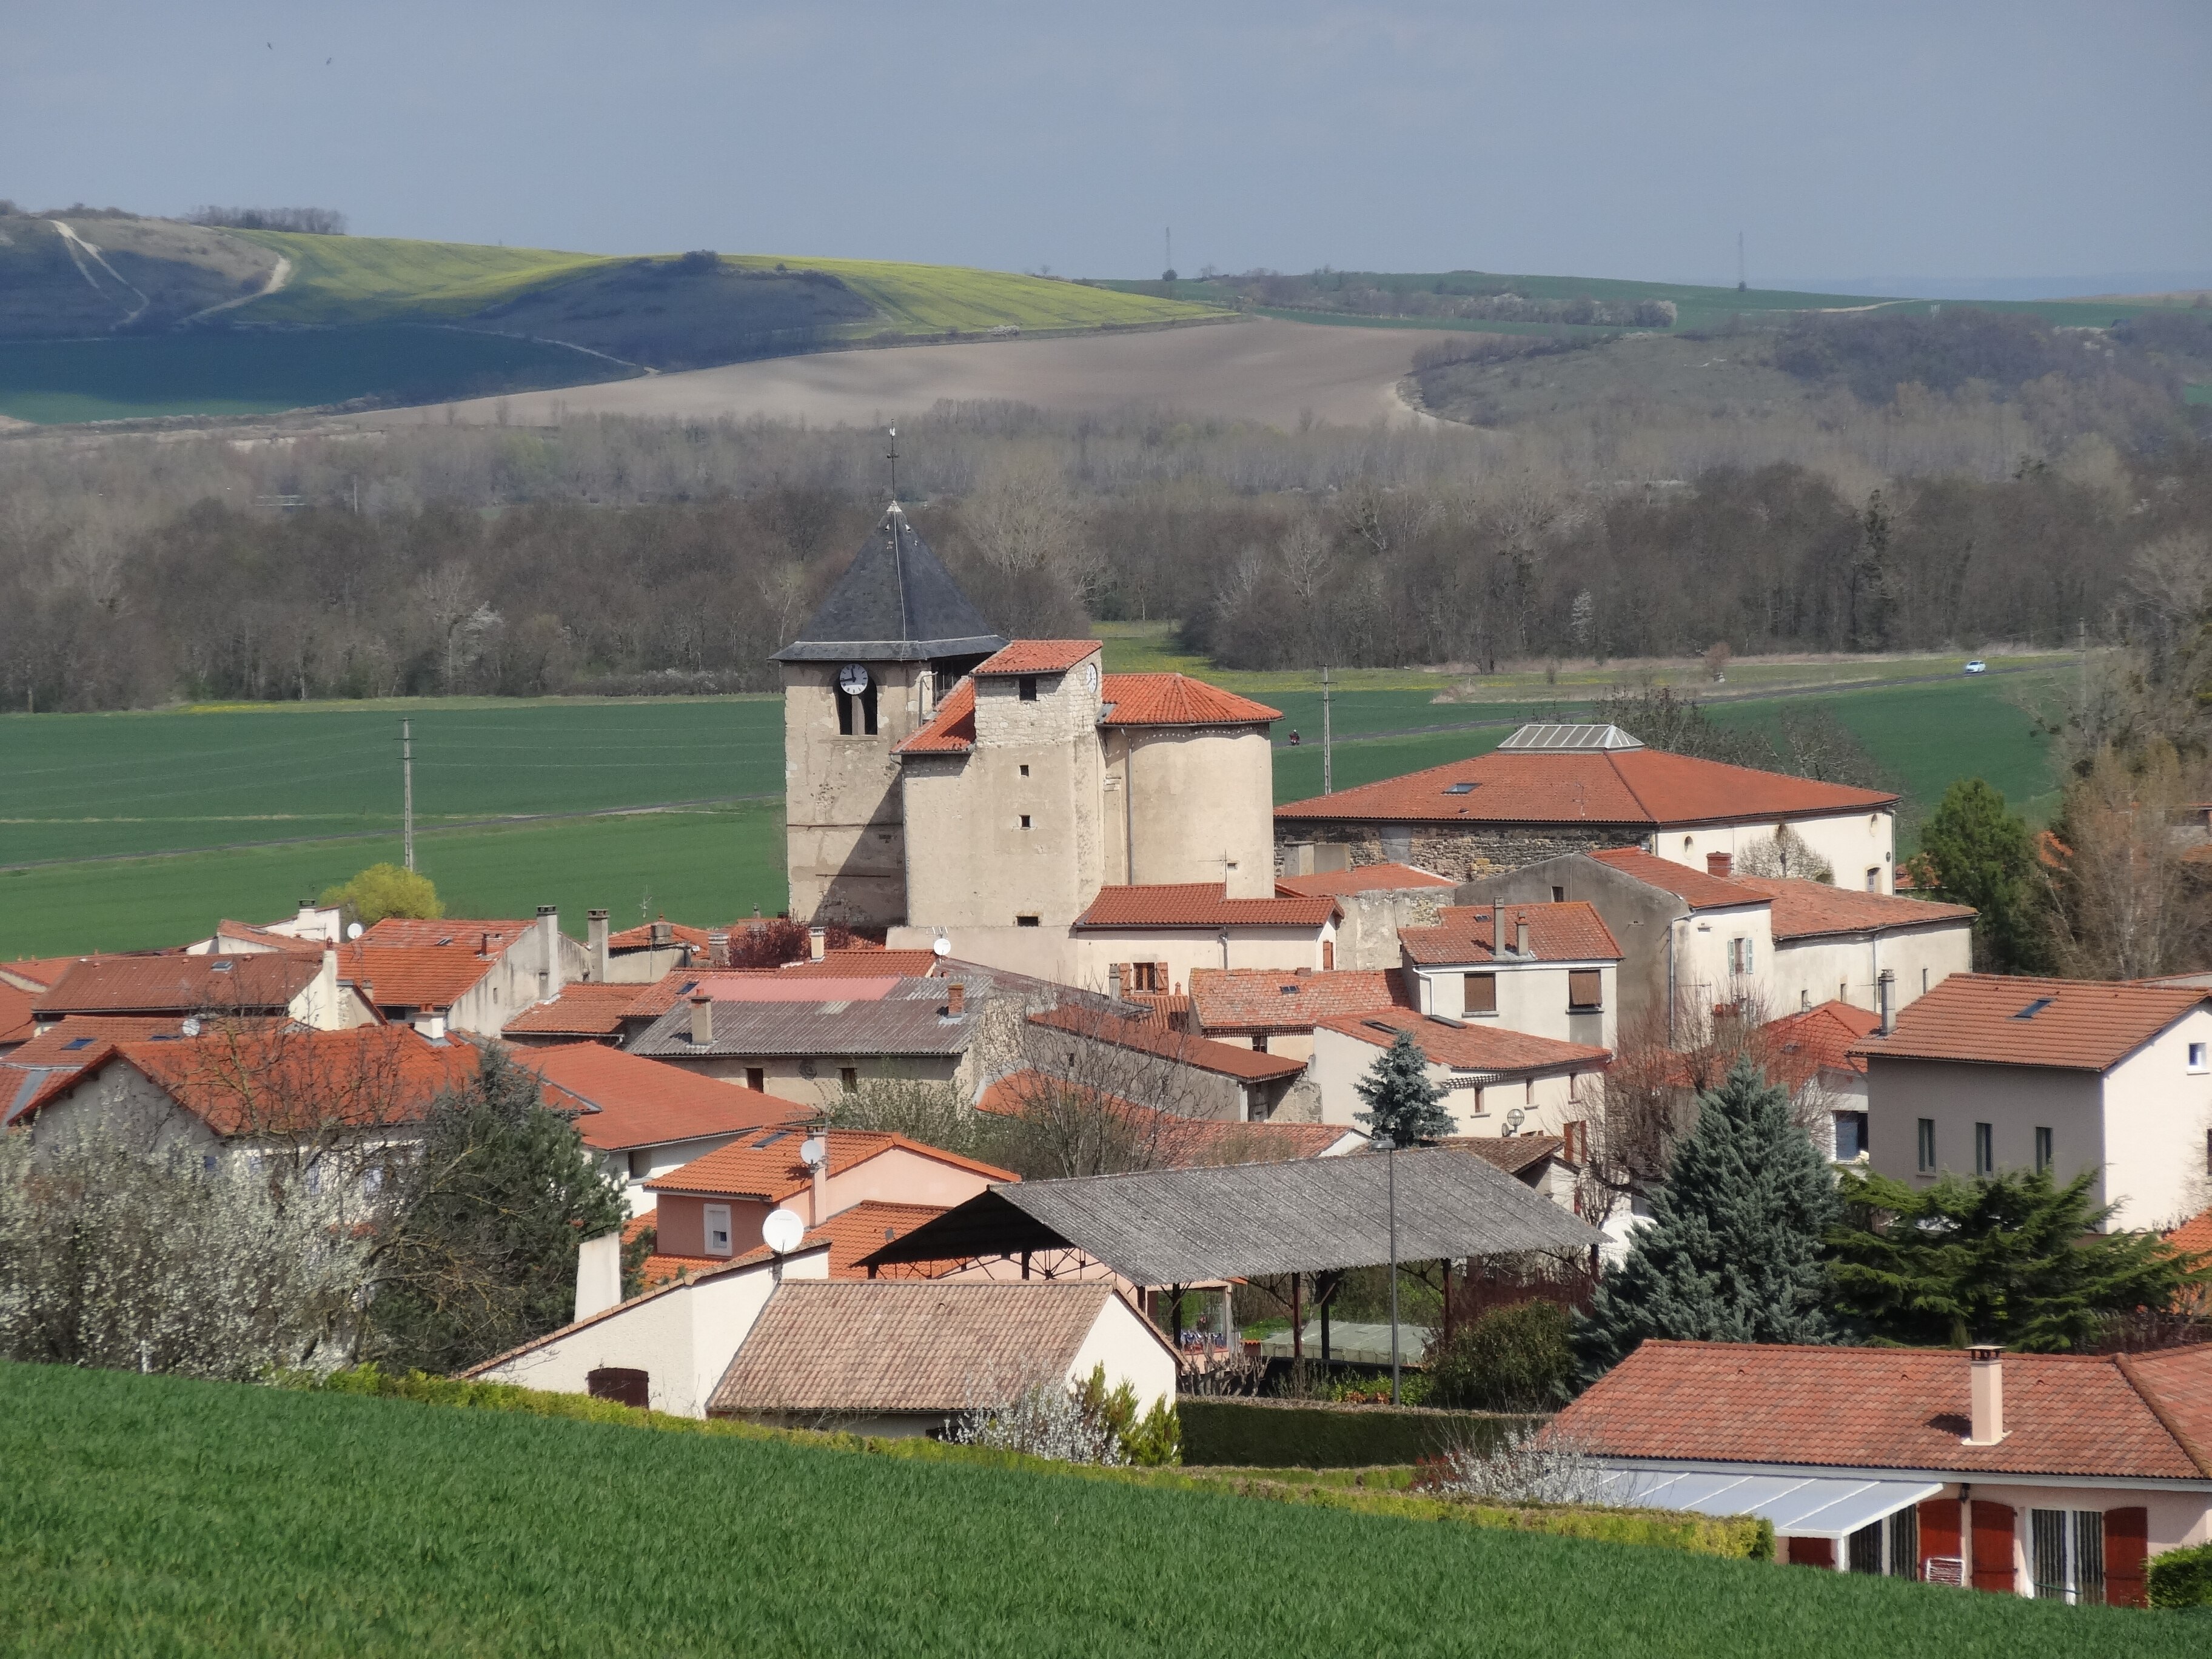
[[[1551,1500],[2117,1606],[2212,1542],[2201,1332],[1854,1345],[1723,1316],[1756,1292],[1717,1283],[1787,1279],[1794,1243],[1717,1267],[1677,1237],[1703,1102],[1743,1190],[1796,1179],[1807,1214],[1838,1181],[2079,1177],[2099,1237],[2181,1263],[2146,1312],[2199,1329],[2212,973],[1978,973],[1893,792],[1615,726],[1274,805],[1274,708],[1000,637],[896,502],[776,661],[785,916],[577,938],[303,900],[4,962],[0,1124],[305,1159],[365,1217],[434,1102],[526,1075],[626,1214],[473,1383],[889,1438],[1088,1389],[1157,1451],[1179,1402],[1285,1378],[1444,1405],[1455,1321],[1542,1301],[1617,1343],[1484,1396],[1544,1425]],[[1376,1285],[1385,1312],[1347,1301]]]

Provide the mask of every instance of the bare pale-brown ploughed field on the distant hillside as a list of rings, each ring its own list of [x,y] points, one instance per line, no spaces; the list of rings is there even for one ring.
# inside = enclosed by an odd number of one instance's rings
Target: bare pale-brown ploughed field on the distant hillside
[[[1190,416],[1292,427],[1301,416],[1336,425],[1429,422],[1400,403],[1396,385],[1413,352],[1455,338],[1429,330],[1321,327],[1252,319],[1146,334],[975,345],[896,345],[823,352],[641,380],[515,392],[456,405],[352,416],[356,425],[493,422],[500,407],[518,427],[568,414],[765,416],[814,425],[878,425],[925,414],[933,403],[1006,398],[1044,409],[1108,411],[1130,405]]]

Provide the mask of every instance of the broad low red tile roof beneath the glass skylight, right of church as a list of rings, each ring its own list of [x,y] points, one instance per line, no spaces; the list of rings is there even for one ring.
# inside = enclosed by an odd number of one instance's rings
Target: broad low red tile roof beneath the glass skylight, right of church
[[[1471,790],[1453,792],[1469,783]],[[1389,823],[1588,823],[1635,830],[1878,812],[1887,790],[1849,790],[1661,750],[1493,750],[1276,807],[1276,818]]]

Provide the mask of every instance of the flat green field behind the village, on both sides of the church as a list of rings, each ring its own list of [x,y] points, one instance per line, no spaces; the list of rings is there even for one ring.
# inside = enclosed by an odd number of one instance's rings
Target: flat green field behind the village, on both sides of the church
[[[1175,657],[1159,626],[1104,633],[1117,670],[1203,670]],[[1730,692],[1752,695],[1714,701],[1712,712],[1774,721],[1785,708],[1825,706],[1920,807],[1953,776],[1982,774],[2042,821],[2055,805],[2048,743],[2022,703],[2064,697],[2070,670],[2051,661],[1975,679],[1949,672],[1949,659],[1747,661],[1732,666]],[[1885,684],[1929,672],[1938,677]],[[1316,677],[1208,677],[1283,710],[1276,801],[1321,794]],[[1856,684],[1825,688],[1843,677]],[[1597,670],[1557,684],[1540,672],[1473,686],[1413,670],[1338,679],[1338,787],[1482,754],[1522,721],[1579,712],[1608,684]],[[1785,695],[1790,686],[1809,695]],[[1455,701],[1436,701],[1447,690]],[[396,858],[403,714],[416,737],[416,863],[449,914],[560,905],[564,925],[582,931],[588,907],[611,909],[617,925],[783,909],[774,697],[4,714],[0,958],[177,945],[226,916],[270,920]]]

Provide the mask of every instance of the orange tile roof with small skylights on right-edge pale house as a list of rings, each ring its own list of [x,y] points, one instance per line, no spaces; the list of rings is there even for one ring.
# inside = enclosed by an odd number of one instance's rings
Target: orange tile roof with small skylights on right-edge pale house
[[[2212,991],[2192,987],[1953,973],[1907,1004],[1896,1031],[1865,1037],[1851,1053],[2110,1071],[2208,998]]]

